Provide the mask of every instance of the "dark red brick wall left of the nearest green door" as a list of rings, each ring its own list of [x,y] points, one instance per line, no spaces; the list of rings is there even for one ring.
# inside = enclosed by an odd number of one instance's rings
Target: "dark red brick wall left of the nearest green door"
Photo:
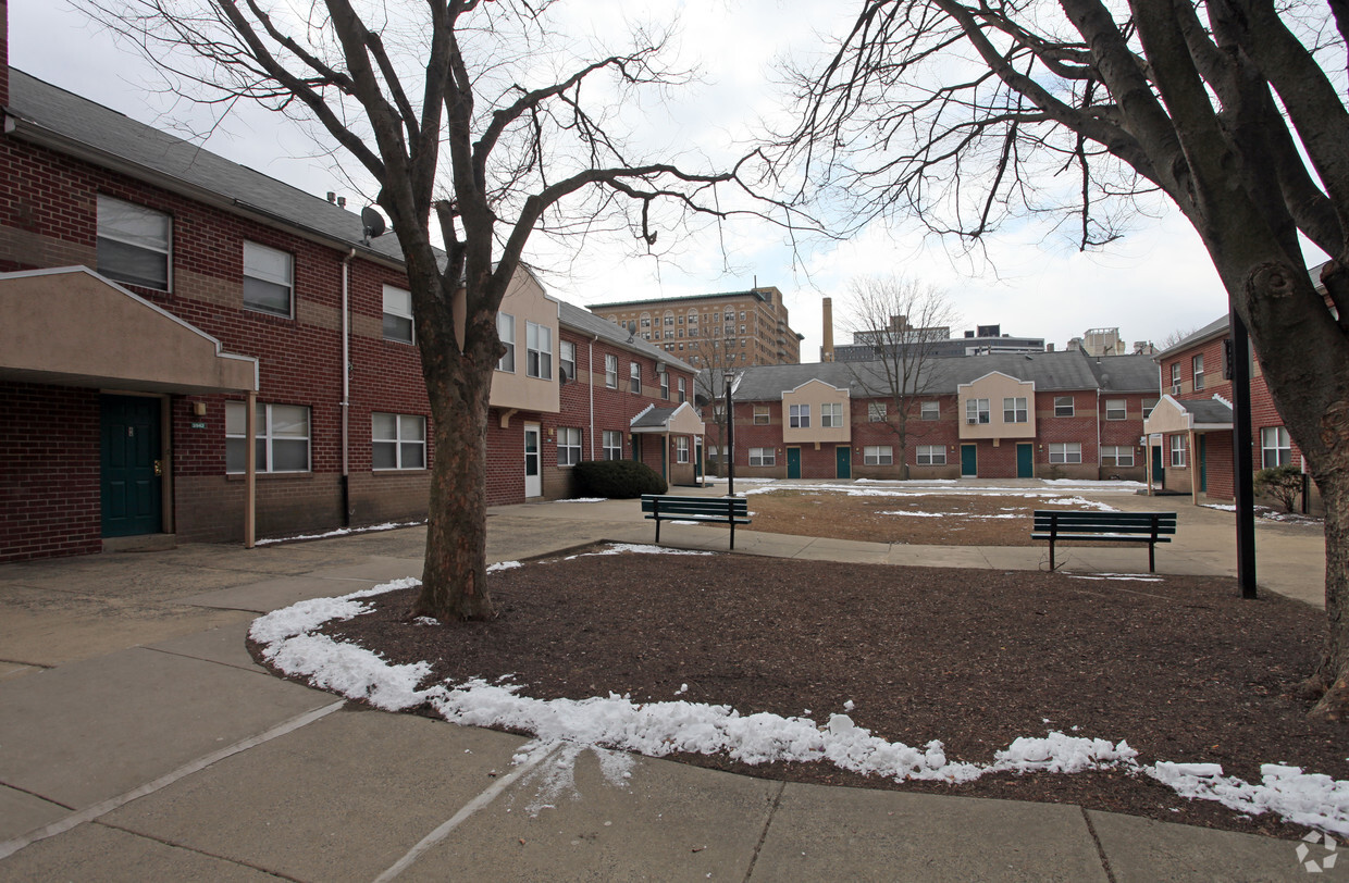
[[[0,562],[103,550],[98,392],[0,382]]]

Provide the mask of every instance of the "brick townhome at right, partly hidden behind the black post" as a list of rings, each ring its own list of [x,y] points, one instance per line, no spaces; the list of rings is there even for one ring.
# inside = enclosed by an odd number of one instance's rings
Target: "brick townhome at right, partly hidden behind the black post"
[[[1161,367],[1161,402],[1147,421],[1155,484],[1166,491],[1190,493],[1195,503],[1230,501],[1233,487],[1233,390],[1229,365],[1230,332],[1224,315],[1157,353]],[[1302,466],[1302,452],[1288,437],[1283,418],[1260,371],[1251,359],[1251,435],[1256,469],[1292,464]],[[1311,485],[1311,507],[1319,506]]]

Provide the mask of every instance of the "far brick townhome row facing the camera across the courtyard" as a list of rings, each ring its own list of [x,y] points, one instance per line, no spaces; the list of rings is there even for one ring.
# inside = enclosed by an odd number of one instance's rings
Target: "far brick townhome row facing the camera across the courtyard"
[[[1079,351],[935,359],[908,423],[913,479],[1145,477],[1155,404],[1148,356]],[[735,470],[758,477],[898,479],[893,407],[874,363],[747,368],[735,391]]]

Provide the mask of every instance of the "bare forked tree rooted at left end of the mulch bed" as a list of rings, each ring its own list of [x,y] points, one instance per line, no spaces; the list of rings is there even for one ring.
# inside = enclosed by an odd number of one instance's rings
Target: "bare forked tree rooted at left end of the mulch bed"
[[[505,352],[496,311],[530,235],[626,228],[650,247],[661,225],[724,217],[718,200],[734,197],[719,195],[723,185],[741,186],[741,164],[701,174],[633,156],[615,131],[622,104],[687,77],[662,67],[661,38],[642,32],[626,51],[579,57],[549,32],[552,7],[104,0],[94,12],[189,97],[317,121],[376,182],[406,262],[434,422],[414,613],[442,621],[492,616],[486,445]]]

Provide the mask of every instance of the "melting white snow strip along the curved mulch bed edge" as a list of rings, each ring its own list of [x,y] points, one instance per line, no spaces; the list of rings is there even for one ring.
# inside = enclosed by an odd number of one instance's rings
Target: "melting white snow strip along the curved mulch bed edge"
[[[654,546],[623,549],[670,554]],[[519,564],[505,562],[492,569],[510,566]],[[301,601],[255,620],[248,634],[263,646],[263,657],[277,669],[305,675],[314,686],[390,712],[430,705],[456,724],[532,732],[544,744],[564,745],[564,756],[575,756],[580,748],[618,748],[653,758],[674,752],[723,754],[751,764],[827,760],[863,775],[956,783],[987,772],[1071,774],[1121,768],[1151,775],[1187,798],[1218,801],[1252,816],[1272,812],[1290,822],[1349,836],[1349,781],[1306,774],[1299,767],[1265,764],[1261,782],[1251,783],[1224,777],[1218,764],[1159,762],[1143,766],[1126,741],[1110,743],[1062,732],[1018,737],[998,751],[990,764],[966,763],[948,759],[940,741],[923,747],[886,741],[858,727],[847,714],[831,714],[820,725],[809,717],[741,714],[728,705],[683,700],[633,702],[614,693],[545,701],[521,696],[519,685],[488,683],[479,678],[424,686],[430,674],[426,662],[390,665],[363,647],[313,634],[326,621],[370,612],[364,599],[415,585],[420,581],[409,577],[341,597]],[[849,705],[844,709],[853,710]]]

